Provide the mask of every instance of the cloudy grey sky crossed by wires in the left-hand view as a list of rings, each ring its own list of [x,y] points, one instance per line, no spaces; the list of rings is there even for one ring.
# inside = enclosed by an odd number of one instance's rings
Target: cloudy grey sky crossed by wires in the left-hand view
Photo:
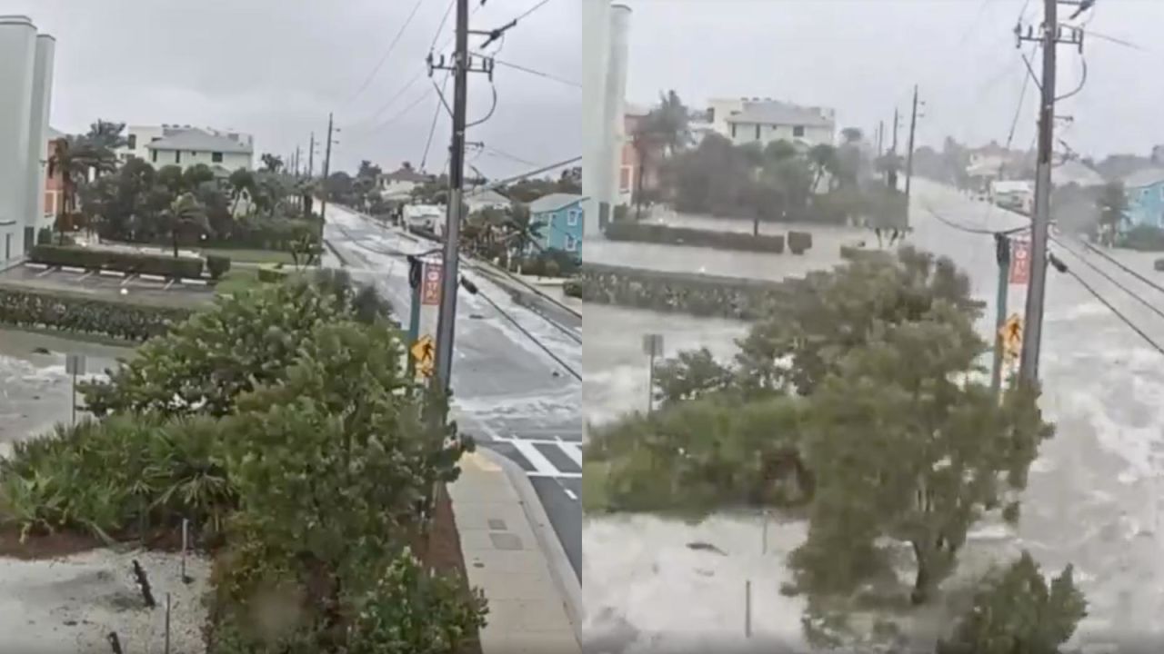
[[[551,0],[510,30],[499,59],[576,84],[581,77],[580,0]],[[318,138],[334,111],[342,133],[335,161],[354,170],[367,158],[385,169],[419,165],[436,94],[421,77],[424,56],[450,0],[421,0],[404,36],[368,87],[416,0],[0,0],[0,13],[27,14],[57,37],[52,125],[79,131],[98,118],[239,129],[260,152],[284,155]],[[478,0],[471,0],[473,6]],[[499,27],[537,0],[489,0],[473,28]],[[453,17],[436,41],[452,47]],[[480,43],[480,38],[470,43]],[[490,50],[496,50],[496,45]],[[442,79],[438,73],[435,79]],[[501,64],[492,118],[470,141],[534,164],[581,152],[581,88]],[[446,90],[452,101],[453,84]],[[421,99],[423,98],[423,99]],[[413,105],[413,102],[418,104]],[[469,120],[492,101],[484,76],[470,76]],[[411,109],[400,114],[403,109]],[[378,109],[383,108],[379,113]],[[388,125],[385,121],[399,116]],[[449,119],[438,119],[426,166],[446,164]],[[306,156],[306,155],[304,155]],[[467,159],[488,176],[531,166],[495,154]],[[317,170],[320,158],[317,157]]]

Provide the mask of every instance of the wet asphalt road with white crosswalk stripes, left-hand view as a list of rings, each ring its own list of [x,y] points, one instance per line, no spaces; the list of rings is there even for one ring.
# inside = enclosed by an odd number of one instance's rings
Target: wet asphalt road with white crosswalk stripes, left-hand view
[[[407,315],[409,265],[400,253],[427,251],[434,243],[334,205],[324,235],[354,278],[375,284],[398,315]],[[581,580],[582,390],[570,372],[582,369],[581,334],[523,306],[489,277],[462,272],[478,294],[457,294],[454,415],[478,445],[526,471]]]

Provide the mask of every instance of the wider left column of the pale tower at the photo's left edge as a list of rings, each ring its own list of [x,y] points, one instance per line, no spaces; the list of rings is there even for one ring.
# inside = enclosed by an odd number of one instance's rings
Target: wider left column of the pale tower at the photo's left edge
[[[28,126],[36,27],[28,16],[0,15],[0,266],[24,250]]]

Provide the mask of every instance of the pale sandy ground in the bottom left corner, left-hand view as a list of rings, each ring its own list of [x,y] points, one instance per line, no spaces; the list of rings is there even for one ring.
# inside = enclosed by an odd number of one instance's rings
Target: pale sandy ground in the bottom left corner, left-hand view
[[[148,609],[133,575],[146,570],[157,603]],[[0,559],[0,652],[107,654],[115,632],[126,654],[164,652],[170,595],[170,652],[205,652],[203,626],[210,562],[191,557],[182,582],[180,557],[151,552],[94,550],[55,561]]]

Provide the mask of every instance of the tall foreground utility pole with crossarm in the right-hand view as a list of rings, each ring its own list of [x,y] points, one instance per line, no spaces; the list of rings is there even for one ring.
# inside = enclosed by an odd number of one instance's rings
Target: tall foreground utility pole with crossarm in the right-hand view
[[[1079,6],[1079,2],[1063,2]],[[1018,375],[1029,383],[1038,382],[1038,354],[1043,337],[1043,305],[1046,292],[1046,241],[1051,221],[1051,156],[1055,148],[1055,64],[1059,43],[1079,47],[1083,52],[1084,33],[1058,21],[1059,0],[1043,0],[1043,24],[1036,34],[1022,24],[1015,26],[1017,47],[1024,41],[1043,47],[1043,78],[1039,80],[1038,158],[1035,166],[1035,220],[1030,234],[1030,286],[1027,292],[1027,320],[1023,326],[1022,356]]]

